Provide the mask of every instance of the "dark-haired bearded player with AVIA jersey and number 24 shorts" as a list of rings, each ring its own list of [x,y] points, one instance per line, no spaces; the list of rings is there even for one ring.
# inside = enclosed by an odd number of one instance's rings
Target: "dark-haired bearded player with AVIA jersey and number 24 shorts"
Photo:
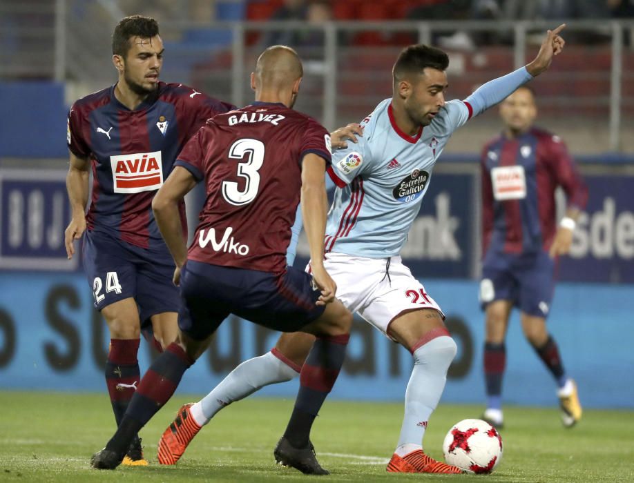
[[[114,86],[76,101],[68,115],[73,217],[66,250],[83,237],[83,262],[111,335],[106,384],[117,424],[140,380],[141,326],[155,345],[176,337],[178,288],[174,262],[156,226],[152,199],[178,152],[206,119],[233,108],[180,84],[159,81],[163,43],[154,19],[126,17],[113,33]],[[88,170],[93,172],[88,213]],[[185,236],[184,205],[177,214]],[[125,464],[147,464],[135,437]]]

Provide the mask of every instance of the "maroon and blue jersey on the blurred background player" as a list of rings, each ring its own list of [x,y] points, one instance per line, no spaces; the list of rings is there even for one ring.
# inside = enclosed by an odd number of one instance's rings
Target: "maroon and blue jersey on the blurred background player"
[[[500,135],[483,148],[483,250],[537,253],[548,250],[557,230],[555,190],[568,207],[586,206],[588,190],[559,137],[531,128],[509,139]]]

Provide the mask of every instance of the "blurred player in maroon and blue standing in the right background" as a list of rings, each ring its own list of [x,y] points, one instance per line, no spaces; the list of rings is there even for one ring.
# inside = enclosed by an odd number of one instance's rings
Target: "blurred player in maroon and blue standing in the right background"
[[[486,309],[483,418],[501,428],[504,340],[513,306],[521,311],[524,335],[557,382],[564,426],[582,415],[575,382],[566,375],[555,339],[546,330],[553,299],[555,263],[570,250],[579,210],[588,193],[566,146],[532,126],[535,95],[521,87],[501,103],[501,135],[482,151],[483,268],[480,300]],[[555,190],[568,208],[557,228]]]

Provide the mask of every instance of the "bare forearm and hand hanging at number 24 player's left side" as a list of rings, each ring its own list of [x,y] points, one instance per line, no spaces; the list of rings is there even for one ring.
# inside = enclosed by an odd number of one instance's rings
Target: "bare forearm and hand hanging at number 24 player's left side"
[[[70,223],[64,231],[66,255],[70,260],[75,255],[73,242],[81,238],[86,231],[86,204],[88,204],[88,181],[90,180],[90,161],[70,153],[70,166],[66,175],[66,191],[70,200]]]

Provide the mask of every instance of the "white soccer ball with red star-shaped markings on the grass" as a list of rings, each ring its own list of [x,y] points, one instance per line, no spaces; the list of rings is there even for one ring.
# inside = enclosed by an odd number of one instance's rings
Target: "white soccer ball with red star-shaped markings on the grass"
[[[468,473],[491,473],[502,459],[502,438],[483,420],[462,420],[449,430],[443,442],[448,464]]]

